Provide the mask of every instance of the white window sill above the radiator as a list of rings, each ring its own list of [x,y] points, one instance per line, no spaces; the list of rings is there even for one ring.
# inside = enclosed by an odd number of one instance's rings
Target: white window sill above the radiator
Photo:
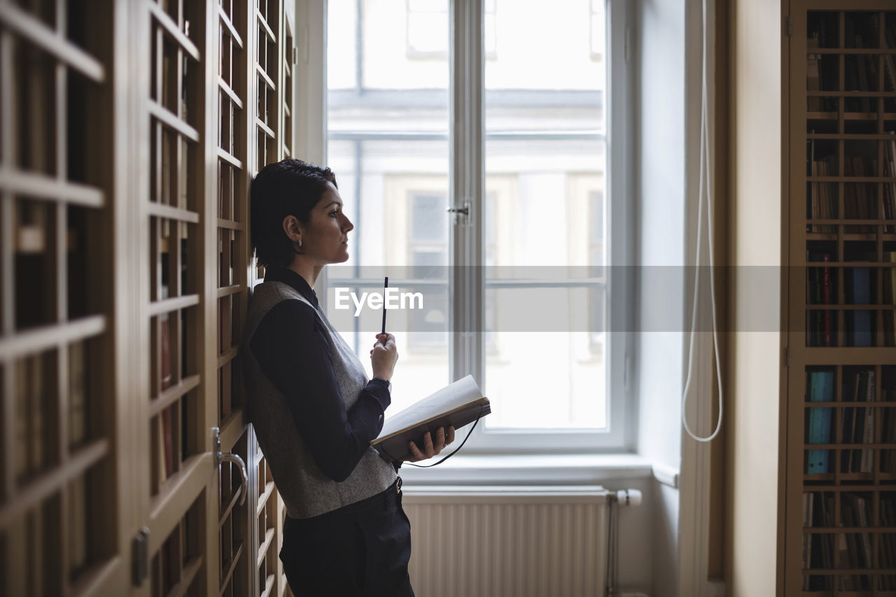
[[[409,495],[435,486],[574,486],[659,480],[653,463],[638,454],[458,454],[429,470],[405,463],[400,474]]]

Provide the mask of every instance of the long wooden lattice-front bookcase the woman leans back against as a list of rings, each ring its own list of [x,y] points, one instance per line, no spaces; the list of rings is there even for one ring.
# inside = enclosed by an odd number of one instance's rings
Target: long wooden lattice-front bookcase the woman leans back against
[[[293,10],[0,1],[0,594],[290,594],[239,343]]]

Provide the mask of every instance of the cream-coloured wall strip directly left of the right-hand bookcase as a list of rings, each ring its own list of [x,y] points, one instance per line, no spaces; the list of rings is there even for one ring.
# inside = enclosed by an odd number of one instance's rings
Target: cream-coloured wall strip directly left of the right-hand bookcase
[[[786,4],[785,4],[786,5]],[[728,311],[733,334],[728,437],[727,580],[731,595],[773,595],[777,588],[780,440],[780,318],[775,276],[758,287],[745,266],[781,263],[781,3],[731,3],[729,115],[733,268]],[[757,173],[760,176],[757,176]],[[755,268],[758,269],[758,268]],[[754,280],[752,281],[754,282]],[[765,313],[762,307],[767,306]],[[764,322],[757,321],[765,318]]]

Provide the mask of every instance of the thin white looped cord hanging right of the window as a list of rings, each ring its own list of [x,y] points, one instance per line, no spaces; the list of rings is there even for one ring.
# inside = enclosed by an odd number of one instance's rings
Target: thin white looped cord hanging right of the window
[[[706,82],[706,46],[707,46],[707,29],[706,29],[706,2],[702,2],[702,92],[701,92],[701,118],[700,118],[700,184],[697,191],[697,252],[694,256],[694,305],[691,309],[691,340],[687,351],[687,378],[685,380],[685,391],[681,398],[681,422],[685,426],[687,435],[694,438],[698,442],[710,442],[722,428],[722,378],[721,367],[719,364],[719,337],[716,333],[716,280],[714,272],[714,264],[712,257],[712,191],[710,181],[710,132],[709,132],[709,100],[707,99],[707,82]],[[706,178],[706,186],[704,189],[703,178]],[[704,192],[705,191],[705,192]],[[709,437],[698,437],[687,424],[687,393],[691,387],[691,375],[694,371],[694,336],[697,327],[697,294],[700,290],[700,238],[703,224],[703,197],[706,197],[706,221],[707,221],[707,245],[710,253],[710,299],[712,307],[712,347],[716,357],[716,378],[719,383],[719,421],[716,423],[716,429]]]

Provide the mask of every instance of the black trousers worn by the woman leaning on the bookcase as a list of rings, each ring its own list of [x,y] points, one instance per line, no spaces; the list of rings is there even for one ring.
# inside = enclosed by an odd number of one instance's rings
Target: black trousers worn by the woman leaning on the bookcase
[[[357,504],[283,524],[280,560],[296,597],[413,597],[410,523],[399,481]]]

